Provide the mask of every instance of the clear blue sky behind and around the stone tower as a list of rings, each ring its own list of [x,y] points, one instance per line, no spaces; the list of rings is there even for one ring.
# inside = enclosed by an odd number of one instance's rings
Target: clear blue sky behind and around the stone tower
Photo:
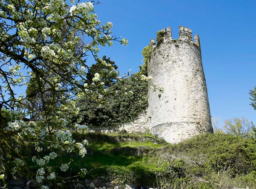
[[[245,116],[256,123],[249,90],[256,85],[256,1],[101,0],[95,6],[102,23],[111,21],[113,34],[129,40],[101,48],[118,65],[122,75],[142,64],[141,51],[157,30],[178,27],[199,34],[211,116],[225,119]]]

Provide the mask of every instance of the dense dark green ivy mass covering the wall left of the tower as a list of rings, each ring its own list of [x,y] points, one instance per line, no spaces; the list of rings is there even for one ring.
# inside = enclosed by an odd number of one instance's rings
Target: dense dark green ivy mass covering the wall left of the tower
[[[88,126],[115,127],[135,119],[139,113],[147,108],[148,83],[141,81],[139,73],[119,80],[107,88],[108,94],[101,97],[106,101],[97,105],[97,99],[88,98],[86,95],[76,100],[80,109],[83,124]],[[97,97],[97,94],[95,94]]]

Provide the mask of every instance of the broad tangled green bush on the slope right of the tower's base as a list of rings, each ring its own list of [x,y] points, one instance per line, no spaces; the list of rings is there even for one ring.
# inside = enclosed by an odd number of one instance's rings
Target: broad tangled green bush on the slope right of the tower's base
[[[186,157],[184,168],[198,176],[209,171],[229,171],[233,175],[256,171],[256,141],[253,139],[227,134],[200,134],[181,143],[170,144],[164,151]],[[172,162],[170,159],[167,161]]]

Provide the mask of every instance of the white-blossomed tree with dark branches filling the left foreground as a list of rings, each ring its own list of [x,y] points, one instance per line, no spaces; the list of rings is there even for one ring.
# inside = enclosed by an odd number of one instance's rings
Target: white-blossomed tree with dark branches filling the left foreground
[[[68,128],[81,132],[86,128],[72,99],[82,93],[88,97],[97,91],[105,94],[104,81],[118,72],[97,57],[99,46],[113,41],[126,45],[126,39],[111,36],[112,23],[104,25],[94,12],[94,1],[0,0],[0,179],[26,174],[41,183],[60,175],[50,165],[67,171],[71,160],[56,161],[63,153],[85,156],[86,140],[76,142]],[[95,73],[86,57],[102,62],[107,73]],[[27,97],[19,87],[30,83]],[[33,91],[33,87],[35,91]],[[28,101],[29,100],[29,101]],[[32,103],[31,103],[32,102]],[[101,102],[100,99],[95,103]],[[37,115],[36,121],[24,117]],[[71,122],[72,121],[72,122]],[[32,152],[25,151],[32,149]],[[32,159],[37,170],[27,167]],[[80,174],[85,171],[81,170]],[[48,188],[42,186],[42,188]]]

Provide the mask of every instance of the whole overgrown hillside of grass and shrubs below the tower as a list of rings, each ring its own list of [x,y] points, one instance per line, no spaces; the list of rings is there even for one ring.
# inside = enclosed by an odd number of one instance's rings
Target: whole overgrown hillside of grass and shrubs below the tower
[[[142,137],[144,140],[141,140]],[[150,185],[149,182],[154,182],[157,173],[158,179],[175,181],[170,186],[189,186],[193,183],[194,188],[206,189],[201,185],[207,181],[209,185],[213,184],[211,188],[215,187],[215,183],[223,189],[231,185],[256,188],[256,141],[252,139],[201,134],[177,144],[166,144],[148,134],[138,136],[127,133],[88,133],[78,135],[76,139],[79,141],[84,138],[89,141],[88,153],[84,158],[74,155],[74,161],[70,164],[74,174],[81,168],[87,168],[87,176],[91,178],[104,174],[111,177],[114,173],[115,177],[121,177],[127,183],[131,181]],[[63,155],[51,166],[68,163],[69,159],[70,156]],[[175,172],[174,177],[169,174],[172,170]],[[72,173],[67,174],[70,176]],[[201,183],[200,180],[205,181]]]

